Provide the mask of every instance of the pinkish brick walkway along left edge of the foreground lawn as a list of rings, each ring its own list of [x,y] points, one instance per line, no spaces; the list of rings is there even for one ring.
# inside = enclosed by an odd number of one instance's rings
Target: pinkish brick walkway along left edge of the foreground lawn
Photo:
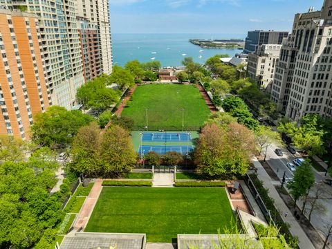
[[[95,181],[95,184],[93,185],[89,196],[84,201],[81,211],[78,214],[74,228],[84,229],[86,227],[90,219],[90,216],[92,214],[93,208],[95,208],[95,203],[97,203],[97,200],[100,196],[100,192],[102,192],[102,181],[103,181],[102,179],[97,179]]]

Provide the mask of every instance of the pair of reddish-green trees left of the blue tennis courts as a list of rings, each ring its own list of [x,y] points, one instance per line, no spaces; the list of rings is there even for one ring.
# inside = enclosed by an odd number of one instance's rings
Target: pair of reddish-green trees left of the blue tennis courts
[[[81,127],[73,142],[69,167],[89,177],[118,177],[136,165],[129,131],[113,125],[104,133],[95,122]]]

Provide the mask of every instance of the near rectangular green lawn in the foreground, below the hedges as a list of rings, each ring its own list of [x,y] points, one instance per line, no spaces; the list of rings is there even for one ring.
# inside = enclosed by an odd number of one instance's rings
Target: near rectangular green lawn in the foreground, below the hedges
[[[216,234],[234,225],[224,188],[103,187],[85,232],[146,233],[172,242],[176,234]]]

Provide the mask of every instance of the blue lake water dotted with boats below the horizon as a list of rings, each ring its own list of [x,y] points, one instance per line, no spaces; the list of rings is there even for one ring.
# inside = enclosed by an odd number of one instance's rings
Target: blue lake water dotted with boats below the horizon
[[[124,66],[138,59],[151,62],[155,58],[162,66],[181,66],[183,57],[192,57],[203,64],[206,59],[217,54],[234,56],[239,49],[208,49],[189,42],[189,39],[244,39],[246,35],[207,35],[207,34],[113,34],[113,64]],[[200,52],[200,50],[203,50]]]

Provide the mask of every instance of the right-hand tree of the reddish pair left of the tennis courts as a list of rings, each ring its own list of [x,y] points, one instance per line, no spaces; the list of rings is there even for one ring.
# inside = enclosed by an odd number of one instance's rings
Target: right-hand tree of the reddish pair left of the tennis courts
[[[129,172],[135,165],[137,156],[131,144],[129,131],[115,125],[103,134],[101,157],[105,175],[120,176]]]

